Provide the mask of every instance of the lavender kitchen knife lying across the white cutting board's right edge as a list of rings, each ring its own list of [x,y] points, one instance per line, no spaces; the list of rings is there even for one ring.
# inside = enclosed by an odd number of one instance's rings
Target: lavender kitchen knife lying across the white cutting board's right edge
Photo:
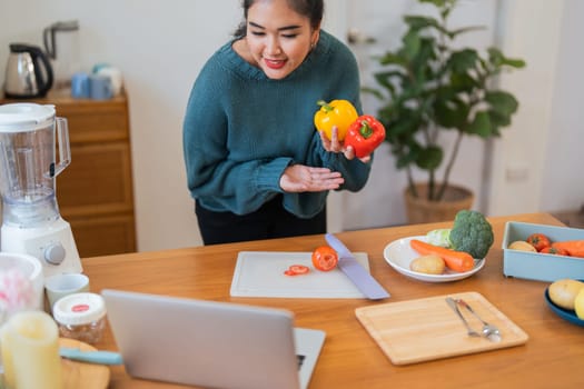
[[[389,297],[387,290],[357,262],[349,249],[337,237],[327,233],[325,239],[338,253],[338,268],[355,283],[362,293],[369,300],[380,300]]]

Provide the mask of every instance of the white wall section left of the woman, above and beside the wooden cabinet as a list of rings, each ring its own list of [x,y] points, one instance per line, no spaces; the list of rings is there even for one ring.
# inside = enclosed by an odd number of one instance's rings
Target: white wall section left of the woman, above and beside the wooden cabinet
[[[0,82],[8,44],[42,46],[42,29],[59,20],[79,20],[82,70],[98,62],[122,70],[140,251],[201,242],[186,187],[182,117],[199,69],[240,17],[239,0],[1,0]]]

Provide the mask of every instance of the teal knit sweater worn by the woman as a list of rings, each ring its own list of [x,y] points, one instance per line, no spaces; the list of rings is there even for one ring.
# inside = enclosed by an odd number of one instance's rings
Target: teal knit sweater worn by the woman
[[[328,192],[284,192],[279,179],[291,163],[339,171],[340,189],[358,191],[370,162],[327,152],[313,118],[318,100],[349,100],[362,113],[359,88],[355,57],[325,31],[281,80],[267,78],[226,43],[202,68],[187,104],[182,141],[192,198],[212,211],[245,215],[284,193],[286,210],[314,217]]]

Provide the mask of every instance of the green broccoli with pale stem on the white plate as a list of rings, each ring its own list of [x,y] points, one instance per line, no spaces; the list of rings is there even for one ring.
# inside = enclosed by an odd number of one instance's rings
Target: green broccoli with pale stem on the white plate
[[[462,210],[456,213],[452,229],[432,230],[426,235],[426,239],[434,246],[466,251],[473,258],[485,258],[493,246],[494,235],[491,223],[483,213]]]

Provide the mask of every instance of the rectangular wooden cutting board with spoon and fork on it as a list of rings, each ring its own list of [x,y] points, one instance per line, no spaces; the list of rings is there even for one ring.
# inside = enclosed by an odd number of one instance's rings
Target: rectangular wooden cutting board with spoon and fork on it
[[[446,297],[462,298],[485,321],[501,331],[501,341],[468,337]],[[471,326],[482,323],[467,310],[461,310]],[[464,292],[417,300],[387,302],[357,308],[357,319],[394,365],[417,363],[434,359],[523,345],[528,336],[481,293]]]

